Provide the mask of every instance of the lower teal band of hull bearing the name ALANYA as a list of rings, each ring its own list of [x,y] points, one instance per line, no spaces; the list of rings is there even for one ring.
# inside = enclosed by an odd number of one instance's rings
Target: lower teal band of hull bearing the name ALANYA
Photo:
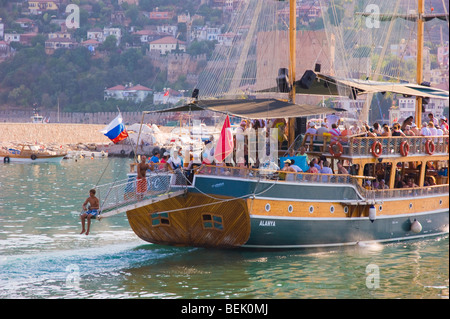
[[[420,233],[411,230],[416,219]],[[361,242],[392,242],[448,233],[449,211],[358,218],[280,218],[251,216],[251,233],[245,247],[308,248],[355,245]]]

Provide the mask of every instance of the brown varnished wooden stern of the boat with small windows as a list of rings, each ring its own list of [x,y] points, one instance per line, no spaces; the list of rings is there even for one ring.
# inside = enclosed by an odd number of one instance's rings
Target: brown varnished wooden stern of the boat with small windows
[[[141,239],[162,245],[231,248],[245,244],[250,217],[244,200],[186,194],[127,211]]]

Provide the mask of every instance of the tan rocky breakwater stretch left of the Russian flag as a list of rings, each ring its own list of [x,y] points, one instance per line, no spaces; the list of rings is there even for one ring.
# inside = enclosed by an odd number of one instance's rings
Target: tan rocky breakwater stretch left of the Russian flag
[[[49,150],[95,150],[110,140],[100,133],[103,124],[0,123],[0,146],[17,148],[20,144],[44,145]]]

